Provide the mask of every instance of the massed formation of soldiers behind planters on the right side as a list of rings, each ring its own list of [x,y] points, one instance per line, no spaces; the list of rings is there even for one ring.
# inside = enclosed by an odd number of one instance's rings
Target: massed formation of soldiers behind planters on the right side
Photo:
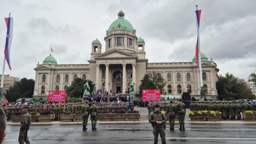
[[[251,102],[238,101],[205,101],[191,102],[189,105],[190,111],[219,111],[222,114],[223,120],[240,120],[241,113],[245,111],[253,111]]]

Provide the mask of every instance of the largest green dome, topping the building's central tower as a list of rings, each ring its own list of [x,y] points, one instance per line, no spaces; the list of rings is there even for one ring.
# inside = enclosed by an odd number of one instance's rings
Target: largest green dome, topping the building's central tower
[[[124,13],[122,10],[118,13],[118,19],[112,22],[111,25],[109,26],[108,32],[116,30],[119,25],[121,26],[122,30],[134,32],[132,24],[128,20],[124,19]]]

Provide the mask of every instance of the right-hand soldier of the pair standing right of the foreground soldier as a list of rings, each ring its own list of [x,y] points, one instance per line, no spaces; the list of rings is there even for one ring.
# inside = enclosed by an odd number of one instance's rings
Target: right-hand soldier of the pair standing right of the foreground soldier
[[[185,114],[186,114],[186,106],[182,102],[182,99],[179,99],[179,103],[177,104],[177,113],[179,116],[179,130],[185,130]]]

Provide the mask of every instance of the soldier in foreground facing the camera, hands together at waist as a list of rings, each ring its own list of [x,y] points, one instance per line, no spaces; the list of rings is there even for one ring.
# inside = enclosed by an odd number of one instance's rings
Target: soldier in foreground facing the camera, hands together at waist
[[[166,143],[164,125],[166,117],[160,112],[160,106],[155,105],[155,111],[150,114],[150,123],[153,126],[154,144],[158,142],[158,134],[160,134],[162,143]]]

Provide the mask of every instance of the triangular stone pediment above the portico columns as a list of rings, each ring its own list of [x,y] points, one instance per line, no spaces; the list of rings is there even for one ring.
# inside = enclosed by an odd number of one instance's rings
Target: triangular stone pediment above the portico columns
[[[104,59],[104,58],[137,58],[137,55],[126,53],[120,50],[110,50],[105,53],[99,54],[94,57],[95,59]]]

